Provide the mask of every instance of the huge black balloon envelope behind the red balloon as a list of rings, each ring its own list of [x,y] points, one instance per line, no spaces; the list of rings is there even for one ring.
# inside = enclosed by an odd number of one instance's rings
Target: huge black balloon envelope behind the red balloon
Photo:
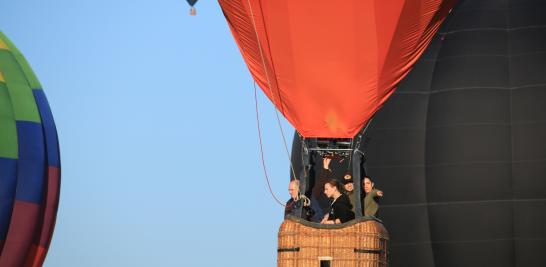
[[[545,14],[459,1],[375,115],[366,165],[390,266],[546,266]]]

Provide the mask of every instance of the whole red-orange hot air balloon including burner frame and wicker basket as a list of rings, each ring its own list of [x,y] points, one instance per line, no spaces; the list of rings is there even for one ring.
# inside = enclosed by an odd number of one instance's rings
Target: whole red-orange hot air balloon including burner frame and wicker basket
[[[388,233],[375,217],[362,216],[359,132],[411,70],[455,0],[218,2],[254,80],[305,137],[303,171],[293,177],[300,192],[313,202],[309,189],[324,190],[310,175],[314,156],[352,155],[356,219],[324,226],[301,219],[300,207],[280,227],[278,266],[387,266]],[[345,138],[357,142],[338,142]]]

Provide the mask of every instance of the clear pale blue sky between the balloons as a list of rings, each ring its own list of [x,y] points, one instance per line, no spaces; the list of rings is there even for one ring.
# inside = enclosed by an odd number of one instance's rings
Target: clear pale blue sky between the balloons
[[[48,267],[276,266],[283,209],[252,78],[216,1],[0,0],[61,142]],[[289,165],[260,95],[273,189]],[[293,129],[283,122],[292,142]]]

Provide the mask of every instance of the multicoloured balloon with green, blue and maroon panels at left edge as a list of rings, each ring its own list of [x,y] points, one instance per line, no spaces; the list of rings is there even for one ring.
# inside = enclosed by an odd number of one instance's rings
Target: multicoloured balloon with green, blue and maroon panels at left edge
[[[0,267],[42,265],[60,173],[57,131],[42,86],[0,32]]]

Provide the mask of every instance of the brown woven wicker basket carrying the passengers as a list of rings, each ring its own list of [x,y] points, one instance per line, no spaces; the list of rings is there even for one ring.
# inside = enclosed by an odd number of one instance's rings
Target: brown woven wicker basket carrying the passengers
[[[389,234],[380,221],[364,217],[339,225],[287,218],[279,230],[279,267],[386,267]]]

